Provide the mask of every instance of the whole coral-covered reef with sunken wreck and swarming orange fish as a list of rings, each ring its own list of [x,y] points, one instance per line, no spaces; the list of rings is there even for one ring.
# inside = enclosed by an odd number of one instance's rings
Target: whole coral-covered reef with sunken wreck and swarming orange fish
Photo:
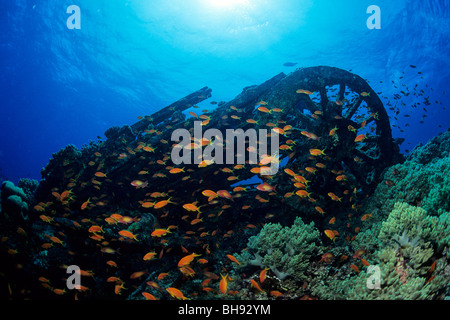
[[[210,91],[63,148],[38,185],[2,184],[9,298],[445,298],[450,132],[402,159],[376,93],[336,68],[280,74],[186,118]],[[274,128],[280,153],[175,165],[171,133],[196,125]],[[215,142],[188,141],[189,151]],[[267,176],[269,163],[283,165]],[[82,270],[76,290],[70,265]]]

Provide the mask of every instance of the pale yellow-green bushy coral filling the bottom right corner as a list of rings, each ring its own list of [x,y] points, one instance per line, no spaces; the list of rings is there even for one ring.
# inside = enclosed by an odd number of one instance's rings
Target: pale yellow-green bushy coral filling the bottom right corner
[[[358,235],[359,242],[369,234],[378,239],[378,249],[367,257],[377,275],[363,270],[346,279],[334,278],[315,284],[313,294],[321,299],[353,300],[443,297],[449,285],[445,251],[450,245],[450,213],[434,217],[422,208],[398,202],[377,228]],[[378,289],[369,283],[374,277],[378,277]]]

